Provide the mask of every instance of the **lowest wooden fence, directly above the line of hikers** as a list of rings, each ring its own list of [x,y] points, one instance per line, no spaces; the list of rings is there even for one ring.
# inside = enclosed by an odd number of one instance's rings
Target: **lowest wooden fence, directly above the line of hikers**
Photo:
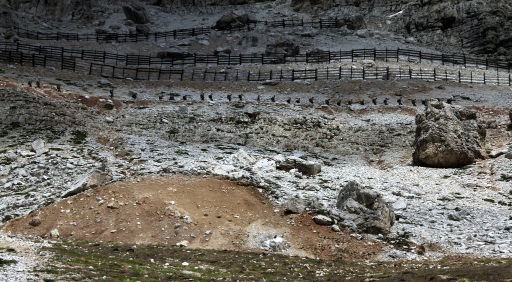
[[[172,81],[298,81],[298,80],[395,80],[421,79],[430,81],[452,81],[471,84],[497,84],[510,86],[510,73],[470,72],[448,70],[447,68],[408,68],[402,67],[326,67],[305,69],[279,69],[258,71],[199,70],[152,67],[125,67],[102,63],[77,62],[75,58],[53,57],[41,54],[26,54],[16,51],[0,50],[0,61],[9,64],[31,67],[54,67],[86,73],[105,78],[134,80],[172,80]]]

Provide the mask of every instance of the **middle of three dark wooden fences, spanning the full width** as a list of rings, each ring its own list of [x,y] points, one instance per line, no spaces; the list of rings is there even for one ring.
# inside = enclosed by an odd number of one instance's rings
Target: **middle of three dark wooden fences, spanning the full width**
[[[377,50],[353,49],[349,51],[322,51],[287,56],[286,54],[188,54],[173,53],[169,57],[140,54],[119,54],[95,50],[74,50],[63,47],[30,45],[13,42],[0,42],[0,51],[22,52],[25,54],[47,55],[66,60],[78,59],[88,62],[115,66],[159,66],[186,67],[198,65],[243,65],[243,64],[285,64],[285,63],[336,63],[370,59],[386,62],[412,62],[441,66],[460,66],[466,68],[494,69],[497,72],[510,73],[510,61],[488,58],[466,57],[455,54],[425,53],[410,49]]]

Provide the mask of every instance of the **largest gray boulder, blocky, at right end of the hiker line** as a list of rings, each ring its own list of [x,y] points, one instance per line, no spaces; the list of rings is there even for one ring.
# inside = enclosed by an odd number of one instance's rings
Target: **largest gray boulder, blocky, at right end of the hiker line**
[[[486,124],[475,110],[428,101],[416,115],[414,162],[433,168],[459,168],[484,159]]]

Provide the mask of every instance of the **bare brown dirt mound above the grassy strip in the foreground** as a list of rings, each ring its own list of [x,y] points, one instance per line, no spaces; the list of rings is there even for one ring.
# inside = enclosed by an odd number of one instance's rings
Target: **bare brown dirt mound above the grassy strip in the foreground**
[[[41,224],[29,225],[38,212]],[[184,215],[192,223],[185,224]],[[265,236],[278,234],[291,243],[289,254],[365,260],[380,253],[379,243],[332,232],[329,226],[316,225],[312,216],[284,216],[254,187],[228,180],[146,177],[64,199],[10,221],[3,231],[48,236],[58,228],[61,237],[86,241],[174,245],[187,240],[189,248],[258,252],[263,251],[258,246]]]

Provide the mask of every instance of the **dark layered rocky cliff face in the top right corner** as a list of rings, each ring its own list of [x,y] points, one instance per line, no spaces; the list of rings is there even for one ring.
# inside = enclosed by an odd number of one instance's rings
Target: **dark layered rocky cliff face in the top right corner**
[[[512,3],[506,0],[411,1],[391,29],[450,51],[512,55]]]

